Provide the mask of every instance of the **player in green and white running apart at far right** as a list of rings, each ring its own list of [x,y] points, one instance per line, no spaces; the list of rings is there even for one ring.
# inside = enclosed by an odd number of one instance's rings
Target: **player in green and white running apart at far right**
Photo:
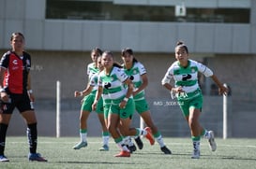
[[[207,131],[199,122],[199,117],[203,106],[203,95],[198,84],[198,73],[201,72],[205,77],[211,77],[218,85],[220,94],[227,94],[228,89],[220,83],[212,70],[196,61],[188,59],[188,47],[181,41],[175,47],[175,59],[167,73],[161,80],[162,85],[173,92],[182,110],[191,133],[193,143],[192,159],[200,158],[200,139],[204,135],[208,139],[210,148],[215,151],[217,148],[214,132]],[[175,85],[170,84],[174,79]]]

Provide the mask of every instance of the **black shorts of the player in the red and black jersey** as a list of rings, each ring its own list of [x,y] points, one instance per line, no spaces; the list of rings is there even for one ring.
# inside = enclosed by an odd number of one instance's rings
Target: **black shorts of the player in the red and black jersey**
[[[9,98],[10,103],[2,104],[3,114],[12,114],[15,107],[18,108],[20,113],[28,110],[34,110],[33,106],[30,104],[27,92],[23,94],[9,93]]]

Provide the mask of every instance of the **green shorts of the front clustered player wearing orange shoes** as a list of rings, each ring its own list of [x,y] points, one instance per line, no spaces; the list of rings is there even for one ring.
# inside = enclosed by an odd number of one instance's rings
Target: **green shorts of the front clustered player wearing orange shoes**
[[[120,99],[120,103],[123,99]],[[120,119],[127,119],[131,118],[133,113],[135,112],[135,104],[133,99],[129,98],[127,106],[125,108],[120,108],[119,104],[112,104],[109,108],[108,113],[112,114],[118,114],[120,116]]]

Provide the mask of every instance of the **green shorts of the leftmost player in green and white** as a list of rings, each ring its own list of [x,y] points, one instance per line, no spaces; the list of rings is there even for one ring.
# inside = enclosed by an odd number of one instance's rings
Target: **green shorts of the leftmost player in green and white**
[[[81,107],[82,111],[92,111],[92,105],[94,103],[95,100],[95,96],[96,93],[95,92],[91,92],[89,95],[84,96],[83,98],[83,105]],[[96,112],[99,114],[103,114],[103,100],[100,97],[100,99],[98,100],[98,104],[96,107]]]

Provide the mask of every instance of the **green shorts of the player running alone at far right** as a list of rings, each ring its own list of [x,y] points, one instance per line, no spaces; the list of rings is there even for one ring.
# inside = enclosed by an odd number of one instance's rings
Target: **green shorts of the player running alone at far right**
[[[178,99],[178,104],[182,110],[182,113],[185,117],[189,116],[189,108],[194,107],[202,110],[203,106],[203,95],[200,93],[199,95],[192,97],[190,99]]]

